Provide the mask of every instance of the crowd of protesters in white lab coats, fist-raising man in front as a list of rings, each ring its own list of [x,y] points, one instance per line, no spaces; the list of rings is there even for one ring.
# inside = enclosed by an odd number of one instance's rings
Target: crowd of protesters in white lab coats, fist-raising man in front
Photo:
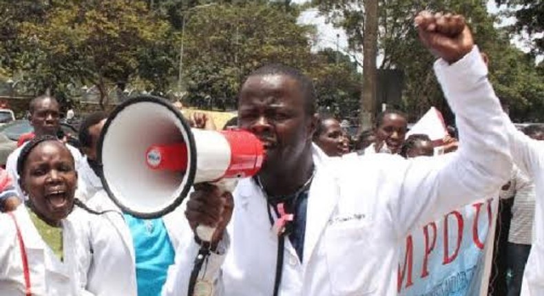
[[[422,12],[415,23],[439,59],[459,139],[407,136],[406,115],[386,110],[352,143],[337,118],[316,114],[308,77],[264,65],[227,123],[262,140],[261,171],[232,193],[195,187],[156,219],[124,213],[103,188],[107,114],[87,116],[73,147],[59,138],[56,99],[34,98],[34,132],[0,173],[0,295],[397,295],[397,246],[410,229],[494,194],[512,205],[497,219],[504,264],[490,295],[544,295],[544,227],[533,223],[544,221],[544,129],[510,123],[463,17]],[[200,224],[216,228],[211,242],[194,235]]]

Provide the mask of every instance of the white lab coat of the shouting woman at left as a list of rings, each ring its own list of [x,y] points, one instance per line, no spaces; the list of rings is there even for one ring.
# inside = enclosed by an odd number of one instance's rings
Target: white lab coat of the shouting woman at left
[[[25,244],[32,295],[92,295],[84,290],[87,269],[92,262],[87,231],[80,222],[86,213],[74,209],[63,220],[63,259],[61,262],[42,240],[25,207],[13,212]],[[17,231],[12,218],[0,214],[0,295],[25,295],[23,262]]]

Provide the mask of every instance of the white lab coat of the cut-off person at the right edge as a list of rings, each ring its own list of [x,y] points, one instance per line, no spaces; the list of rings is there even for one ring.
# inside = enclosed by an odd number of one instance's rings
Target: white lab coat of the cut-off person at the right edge
[[[516,129],[508,116],[508,136],[514,163],[530,176],[536,190],[531,253],[523,273],[522,296],[544,295],[544,141],[533,140]]]

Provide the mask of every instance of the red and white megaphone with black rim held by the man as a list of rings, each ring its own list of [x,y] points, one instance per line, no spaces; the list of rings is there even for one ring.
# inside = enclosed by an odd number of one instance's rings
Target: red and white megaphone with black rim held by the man
[[[156,96],[118,105],[97,152],[109,198],[146,219],[174,211],[193,184],[253,176],[264,160],[262,142],[249,131],[191,129],[176,107]],[[211,234],[208,229],[200,238],[209,241]]]

